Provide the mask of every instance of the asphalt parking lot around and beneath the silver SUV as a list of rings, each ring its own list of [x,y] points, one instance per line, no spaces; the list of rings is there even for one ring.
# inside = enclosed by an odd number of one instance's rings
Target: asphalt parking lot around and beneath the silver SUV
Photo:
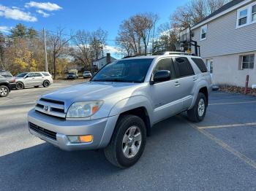
[[[29,134],[39,95],[72,85],[15,90],[0,98],[0,190],[256,190],[256,98],[213,92],[203,122],[159,122],[132,168],[102,151],[65,152]]]

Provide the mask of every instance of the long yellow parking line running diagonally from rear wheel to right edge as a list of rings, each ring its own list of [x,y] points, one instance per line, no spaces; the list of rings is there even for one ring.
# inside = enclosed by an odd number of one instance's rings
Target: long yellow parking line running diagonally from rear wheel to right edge
[[[241,154],[241,152],[238,152],[236,149],[233,149],[228,144],[225,144],[225,142],[223,142],[222,140],[217,139],[217,137],[213,136],[211,133],[208,133],[206,130],[200,129],[197,125],[193,124],[192,122],[188,122],[183,117],[179,117],[179,118],[184,122],[187,122],[189,126],[198,130],[200,133],[203,133],[203,135],[207,136],[208,139],[211,139],[215,143],[219,144],[219,146],[221,146],[223,149],[227,150],[228,152],[231,152],[233,155],[240,158],[245,163],[251,165],[253,168],[256,168],[256,162],[254,160],[250,159],[249,157],[246,157],[246,155]]]

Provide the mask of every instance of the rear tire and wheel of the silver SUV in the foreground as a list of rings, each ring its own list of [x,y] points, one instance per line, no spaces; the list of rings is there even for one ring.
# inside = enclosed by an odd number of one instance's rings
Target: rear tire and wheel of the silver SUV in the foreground
[[[195,106],[187,111],[187,116],[192,122],[200,122],[206,116],[207,101],[206,95],[198,93]]]

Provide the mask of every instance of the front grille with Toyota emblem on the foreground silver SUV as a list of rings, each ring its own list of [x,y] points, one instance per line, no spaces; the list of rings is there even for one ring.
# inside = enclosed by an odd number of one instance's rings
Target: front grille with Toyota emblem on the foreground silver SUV
[[[37,112],[42,114],[47,114],[52,117],[58,117],[61,119],[65,119],[66,113],[64,109],[64,101],[57,101],[48,98],[40,98],[37,101],[37,105],[35,107]]]

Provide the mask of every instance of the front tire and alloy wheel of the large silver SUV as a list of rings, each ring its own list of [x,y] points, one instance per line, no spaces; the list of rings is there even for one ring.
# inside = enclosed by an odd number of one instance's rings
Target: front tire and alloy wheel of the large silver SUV
[[[143,120],[135,115],[124,115],[116,123],[110,144],[104,150],[105,157],[119,168],[129,168],[137,163],[145,146],[146,126]]]

